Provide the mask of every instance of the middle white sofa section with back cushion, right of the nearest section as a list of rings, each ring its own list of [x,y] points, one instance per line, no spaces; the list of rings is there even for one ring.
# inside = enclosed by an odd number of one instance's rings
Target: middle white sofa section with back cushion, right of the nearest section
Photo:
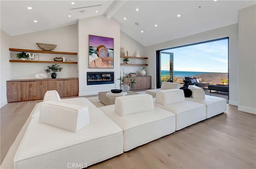
[[[124,131],[124,151],[175,132],[175,114],[154,107],[149,94],[117,97],[114,105],[100,107]]]

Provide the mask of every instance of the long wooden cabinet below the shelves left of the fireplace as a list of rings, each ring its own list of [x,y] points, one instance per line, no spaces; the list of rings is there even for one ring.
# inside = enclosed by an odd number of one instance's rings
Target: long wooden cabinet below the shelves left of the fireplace
[[[11,80],[6,86],[7,102],[43,99],[47,90],[56,90],[60,97],[78,96],[77,78]]]

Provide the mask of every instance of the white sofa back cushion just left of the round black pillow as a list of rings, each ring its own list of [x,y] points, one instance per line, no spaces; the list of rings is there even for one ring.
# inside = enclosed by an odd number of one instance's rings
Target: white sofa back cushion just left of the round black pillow
[[[159,90],[156,92],[156,102],[159,104],[174,104],[184,102],[185,96],[181,89]]]

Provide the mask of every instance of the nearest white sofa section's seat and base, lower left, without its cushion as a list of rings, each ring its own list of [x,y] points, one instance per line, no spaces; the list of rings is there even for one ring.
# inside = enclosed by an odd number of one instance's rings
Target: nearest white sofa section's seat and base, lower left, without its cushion
[[[15,168],[87,166],[123,153],[123,132],[98,108],[90,108],[91,124],[77,133],[40,124],[32,118],[14,157]],[[82,167],[81,167],[82,168]]]

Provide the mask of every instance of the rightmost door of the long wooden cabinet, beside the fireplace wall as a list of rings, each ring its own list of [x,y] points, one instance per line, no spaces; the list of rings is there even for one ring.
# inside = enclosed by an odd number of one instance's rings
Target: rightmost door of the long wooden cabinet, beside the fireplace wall
[[[64,81],[64,97],[78,96],[78,79]]]

